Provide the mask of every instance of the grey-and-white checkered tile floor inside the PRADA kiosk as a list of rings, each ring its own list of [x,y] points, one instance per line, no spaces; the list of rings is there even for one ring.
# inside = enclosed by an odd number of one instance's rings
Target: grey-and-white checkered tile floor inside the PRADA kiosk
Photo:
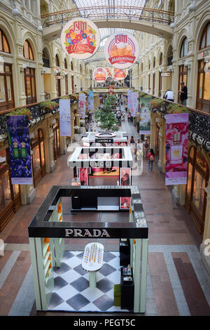
[[[90,289],[89,274],[82,268],[83,252],[65,251],[60,268],[54,268],[54,291],[48,310],[128,312],[113,305],[113,285],[120,284],[119,252],[104,251],[97,287]]]

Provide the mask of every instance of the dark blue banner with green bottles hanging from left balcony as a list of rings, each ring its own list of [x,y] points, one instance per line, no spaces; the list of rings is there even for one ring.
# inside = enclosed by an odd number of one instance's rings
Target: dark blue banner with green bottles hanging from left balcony
[[[6,123],[12,185],[32,185],[28,117],[8,116]]]

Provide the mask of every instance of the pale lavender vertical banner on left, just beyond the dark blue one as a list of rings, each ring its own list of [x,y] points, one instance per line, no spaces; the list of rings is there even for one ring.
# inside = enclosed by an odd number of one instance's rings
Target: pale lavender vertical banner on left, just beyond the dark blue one
[[[59,99],[59,130],[60,136],[71,136],[70,100]]]

